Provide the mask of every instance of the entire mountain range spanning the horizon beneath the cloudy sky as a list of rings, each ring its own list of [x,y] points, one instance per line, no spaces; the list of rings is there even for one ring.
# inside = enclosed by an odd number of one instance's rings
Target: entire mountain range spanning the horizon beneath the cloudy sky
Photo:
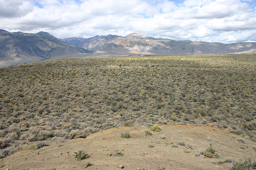
[[[211,53],[256,53],[256,43],[176,41],[138,33],[130,33],[125,37],[96,35],[90,38],[58,39],[43,31],[33,34],[0,29],[0,66],[68,57]]]

